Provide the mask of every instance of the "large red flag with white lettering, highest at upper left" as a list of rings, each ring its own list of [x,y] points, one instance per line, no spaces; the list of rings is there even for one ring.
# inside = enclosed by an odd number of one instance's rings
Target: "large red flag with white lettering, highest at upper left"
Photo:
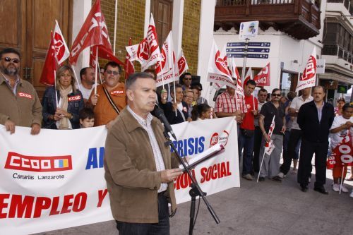
[[[83,23],[80,32],[78,32],[75,42],[73,42],[69,59],[70,64],[76,64],[78,56],[83,49],[95,45],[102,45],[109,52],[112,52],[107,25],[100,10],[100,0],[95,1],[85,23]]]

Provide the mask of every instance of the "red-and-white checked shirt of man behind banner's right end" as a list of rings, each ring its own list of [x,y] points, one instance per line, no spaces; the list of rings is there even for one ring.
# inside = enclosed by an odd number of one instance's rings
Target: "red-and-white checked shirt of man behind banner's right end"
[[[235,95],[237,95],[237,101],[235,99]],[[242,113],[248,112],[244,97],[238,94],[235,95],[231,96],[227,91],[223,92],[221,95],[218,95],[215,103],[215,112],[234,113],[237,110],[240,110]]]

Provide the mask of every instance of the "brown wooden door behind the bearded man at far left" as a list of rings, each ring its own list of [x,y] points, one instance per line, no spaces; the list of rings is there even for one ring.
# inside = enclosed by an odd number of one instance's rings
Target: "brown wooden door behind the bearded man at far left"
[[[39,83],[50,42],[50,31],[58,20],[66,43],[71,45],[73,0],[1,0],[0,49],[13,47],[22,55],[23,79],[42,96]]]

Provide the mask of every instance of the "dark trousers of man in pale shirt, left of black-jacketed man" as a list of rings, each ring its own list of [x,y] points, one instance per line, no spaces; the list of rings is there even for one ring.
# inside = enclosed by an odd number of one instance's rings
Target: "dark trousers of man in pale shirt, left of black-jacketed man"
[[[280,172],[287,174],[290,165],[292,164],[292,159],[295,155],[295,148],[297,147],[299,140],[301,138],[301,130],[292,129],[289,135],[289,143],[287,147],[287,152],[283,152],[283,164],[280,167]]]

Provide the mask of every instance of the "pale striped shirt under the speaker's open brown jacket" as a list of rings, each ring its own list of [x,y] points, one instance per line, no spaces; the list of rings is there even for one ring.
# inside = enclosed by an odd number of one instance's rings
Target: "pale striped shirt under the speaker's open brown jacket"
[[[147,131],[148,138],[150,139],[150,144],[153,150],[153,157],[155,157],[155,166],[157,171],[164,171],[165,166],[163,162],[162,153],[160,152],[160,146],[157,143],[157,139],[155,138],[155,133],[153,132],[151,121],[153,119],[152,114],[148,114],[147,119],[143,119],[138,116],[132,109],[127,106],[128,112],[132,114],[132,116],[138,121],[138,123]],[[158,189],[158,193],[166,191],[168,187],[167,183],[161,183],[160,188]]]

